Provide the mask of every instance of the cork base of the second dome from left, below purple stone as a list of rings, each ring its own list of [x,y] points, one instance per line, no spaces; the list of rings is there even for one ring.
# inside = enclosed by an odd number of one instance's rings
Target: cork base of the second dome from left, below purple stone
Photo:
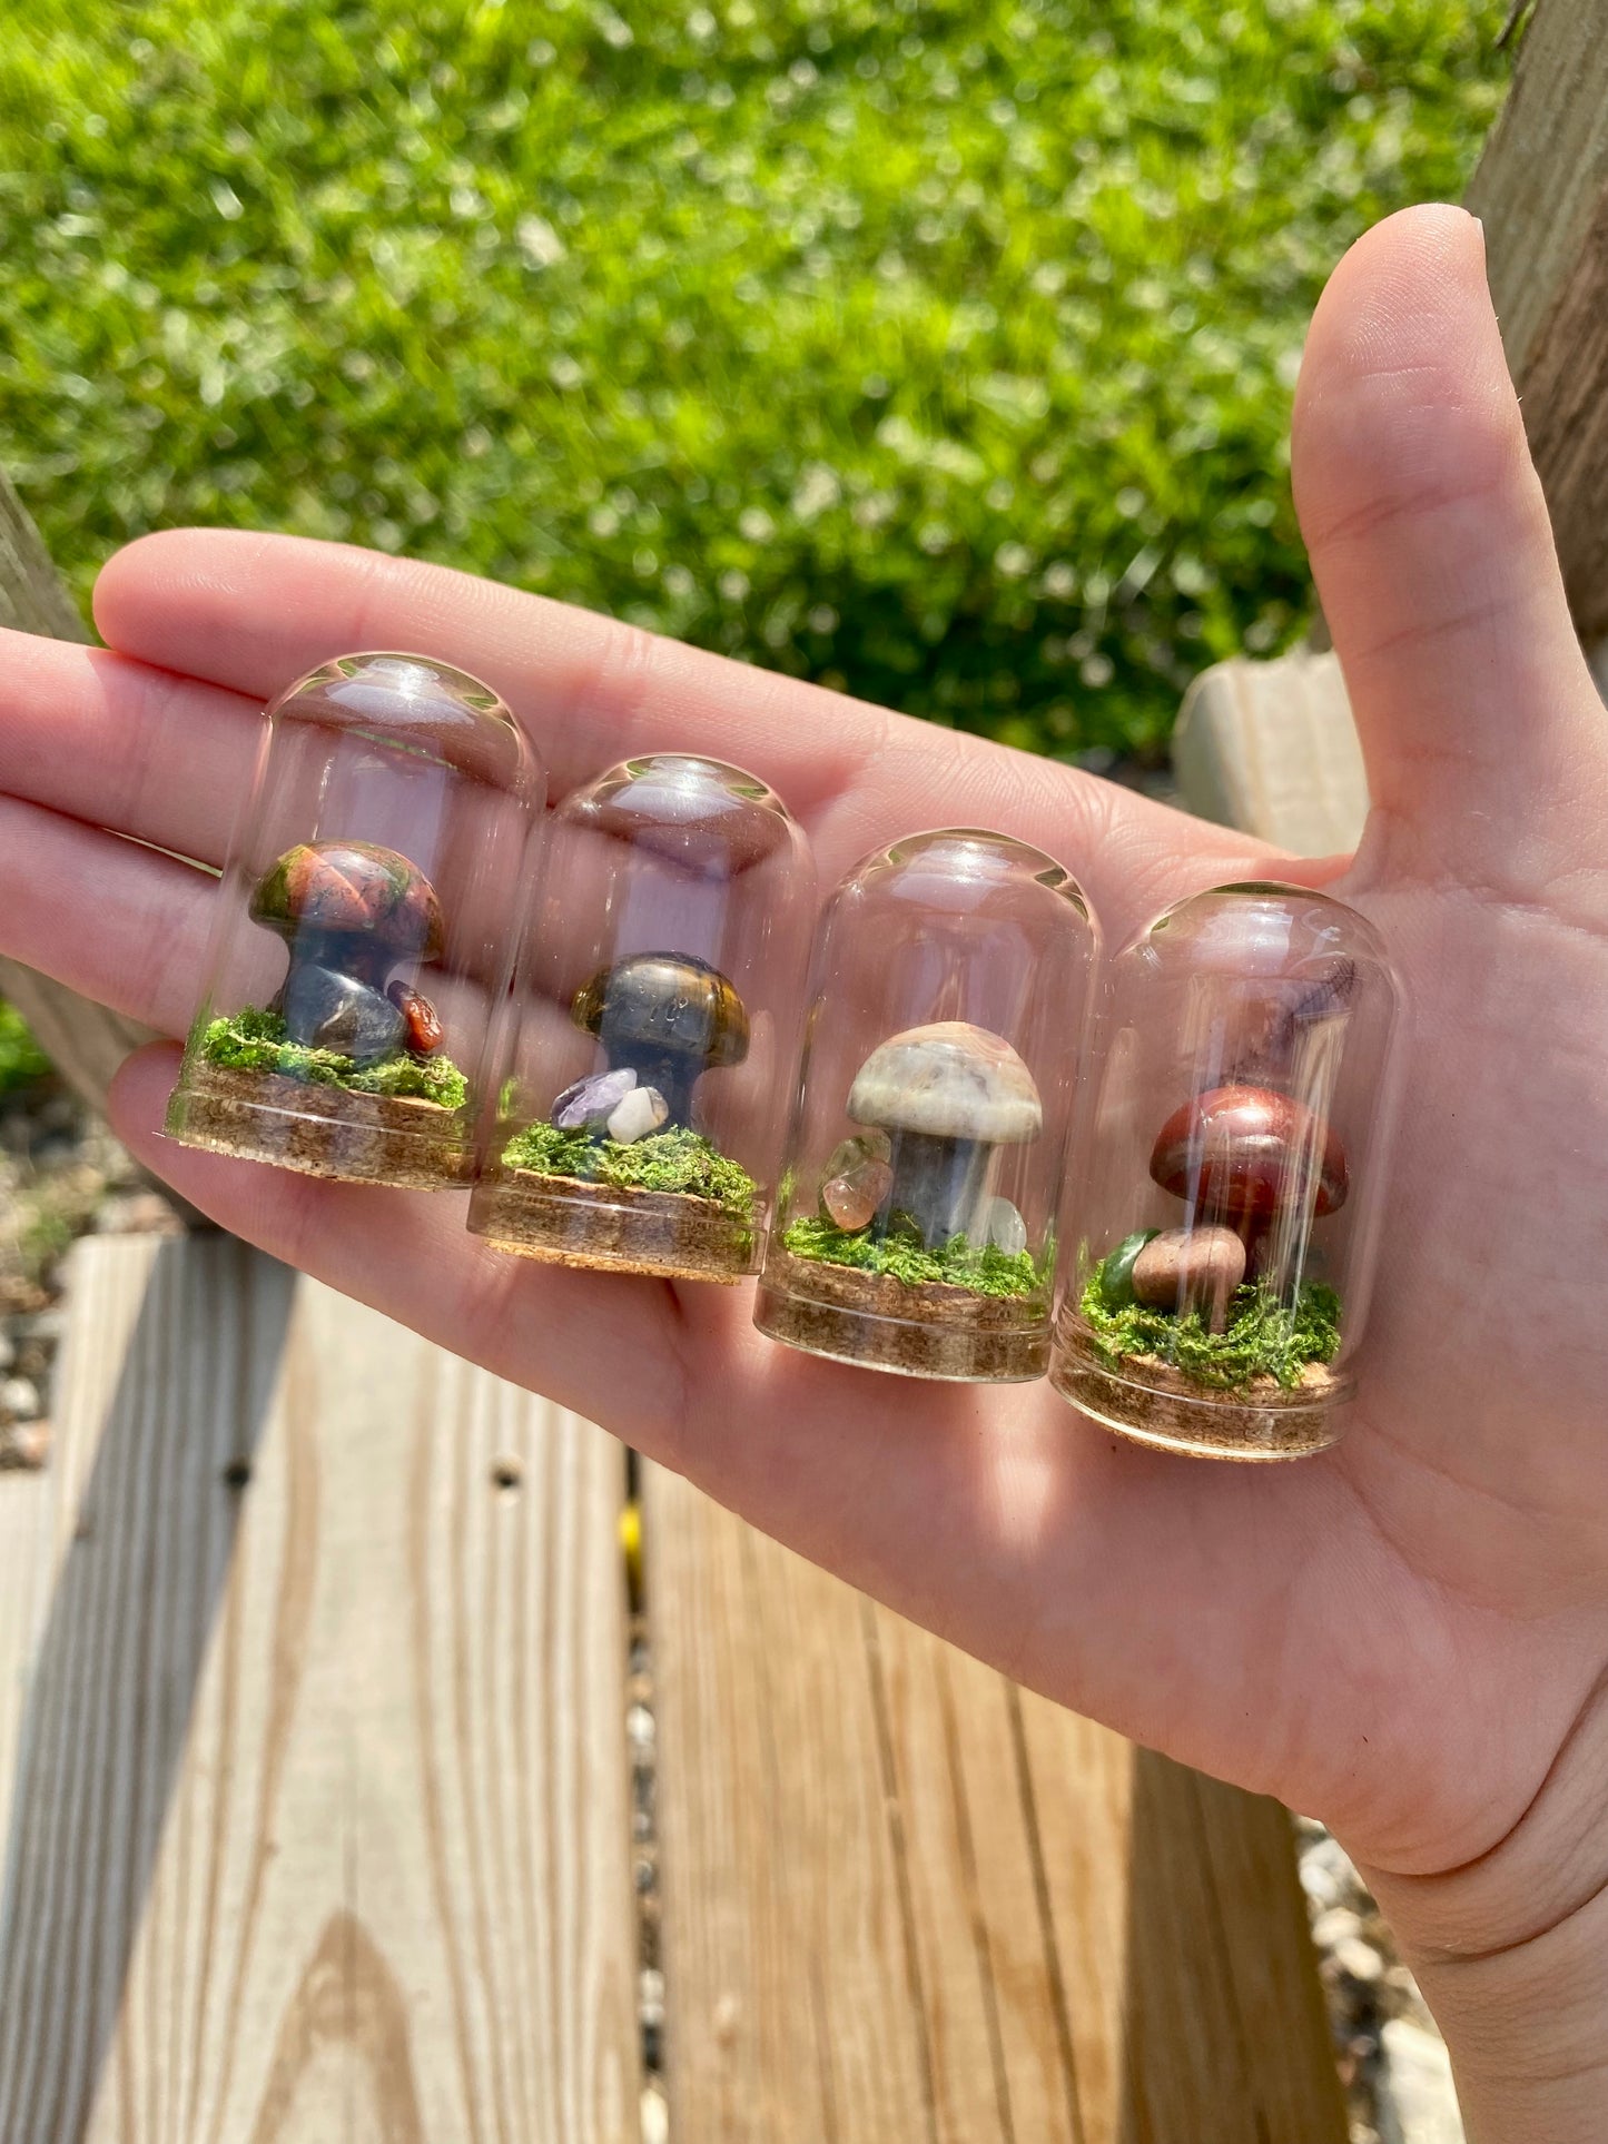
[[[693,1192],[497,1168],[470,1201],[470,1229],[497,1250],[596,1274],[656,1274],[735,1286],[759,1263],[759,1231]]]

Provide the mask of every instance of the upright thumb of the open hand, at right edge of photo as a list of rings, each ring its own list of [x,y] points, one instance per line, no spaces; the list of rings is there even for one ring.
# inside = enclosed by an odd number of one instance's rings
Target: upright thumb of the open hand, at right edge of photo
[[[1391,217],[1336,270],[1293,465],[1391,864],[1544,883],[1602,823],[1604,714],[1460,208]]]

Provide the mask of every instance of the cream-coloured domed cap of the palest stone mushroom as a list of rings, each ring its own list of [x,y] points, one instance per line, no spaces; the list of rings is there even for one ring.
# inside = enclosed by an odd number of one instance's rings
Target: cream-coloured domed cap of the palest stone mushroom
[[[853,1123],[1014,1147],[1044,1130],[1033,1074],[1003,1036],[937,1021],[890,1036],[849,1089]]]

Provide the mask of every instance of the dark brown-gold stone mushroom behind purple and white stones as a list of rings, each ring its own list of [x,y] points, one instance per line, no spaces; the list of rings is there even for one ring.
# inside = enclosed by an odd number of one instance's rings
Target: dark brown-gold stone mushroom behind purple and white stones
[[[570,1006],[594,1033],[609,1070],[632,1070],[665,1096],[671,1126],[693,1123],[693,1087],[748,1055],[748,1014],[733,984],[680,952],[637,952],[581,984]]]

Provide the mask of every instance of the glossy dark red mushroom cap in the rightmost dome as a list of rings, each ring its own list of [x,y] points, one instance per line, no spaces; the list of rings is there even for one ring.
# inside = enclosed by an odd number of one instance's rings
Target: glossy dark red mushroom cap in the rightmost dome
[[[1344,1147],[1323,1117],[1274,1087],[1209,1087],[1175,1108],[1149,1173],[1164,1192],[1233,1220],[1265,1220],[1308,1196],[1321,1218],[1346,1198]]]

